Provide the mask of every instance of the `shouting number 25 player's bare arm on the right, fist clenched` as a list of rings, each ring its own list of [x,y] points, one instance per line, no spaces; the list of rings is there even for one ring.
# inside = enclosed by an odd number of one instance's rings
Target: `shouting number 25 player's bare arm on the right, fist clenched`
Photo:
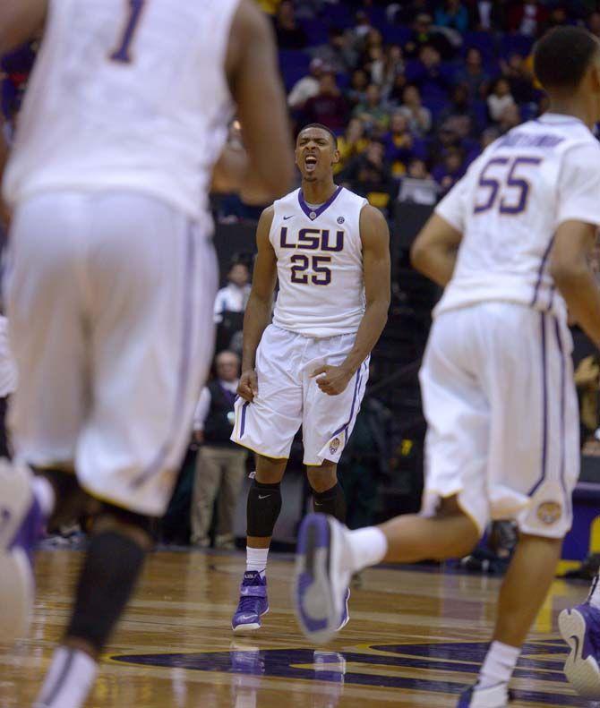
[[[355,345],[340,366],[321,366],[313,371],[323,393],[338,396],[346,390],[358,367],[371,354],[381,337],[390,309],[390,230],[381,211],[365,206],[360,213],[363,244],[364,296],[366,308]]]

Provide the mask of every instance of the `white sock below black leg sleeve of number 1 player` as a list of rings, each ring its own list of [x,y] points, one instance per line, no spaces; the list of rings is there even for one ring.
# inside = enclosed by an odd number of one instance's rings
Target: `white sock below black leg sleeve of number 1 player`
[[[97,673],[98,664],[89,654],[59,646],[34,708],[82,708]]]

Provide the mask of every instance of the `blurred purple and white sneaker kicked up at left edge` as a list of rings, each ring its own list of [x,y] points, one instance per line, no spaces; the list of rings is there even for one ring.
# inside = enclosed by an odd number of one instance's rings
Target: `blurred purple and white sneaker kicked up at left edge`
[[[33,607],[32,553],[45,519],[31,481],[28,467],[0,458],[0,627],[6,643],[27,634]]]

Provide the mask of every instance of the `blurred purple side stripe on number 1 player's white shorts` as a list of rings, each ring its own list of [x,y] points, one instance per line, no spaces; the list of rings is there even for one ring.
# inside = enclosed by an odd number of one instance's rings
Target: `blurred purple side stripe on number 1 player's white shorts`
[[[172,450],[173,440],[176,439],[177,431],[182,422],[180,420],[181,411],[184,407],[185,391],[190,378],[190,363],[192,361],[192,328],[193,328],[193,274],[196,269],[196,239],[193,233],[193,222],[190,221],[187,229],[187,243],[185,252],[185,273],[184,273],[184,328],[181,338],[181,357],[179,359],[179,370],[177,373],[176,399],[173,408],[173,417],[167,439],[159,448],[157,456],[150,462],[142,472],[133,480],[133,488],[137,489],[144,482],[147,482],[155,474],[159,473],[167,460],[167,456]]]

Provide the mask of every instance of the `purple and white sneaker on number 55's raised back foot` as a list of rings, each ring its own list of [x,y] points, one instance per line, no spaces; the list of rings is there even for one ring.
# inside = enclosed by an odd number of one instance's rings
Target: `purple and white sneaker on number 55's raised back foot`
[[[324,514],[306,516],[298,532],[296,617],[304,635],[317,644],[328,642],[347,622],[351,572],[343,564],[345,532],[343,525]]]

